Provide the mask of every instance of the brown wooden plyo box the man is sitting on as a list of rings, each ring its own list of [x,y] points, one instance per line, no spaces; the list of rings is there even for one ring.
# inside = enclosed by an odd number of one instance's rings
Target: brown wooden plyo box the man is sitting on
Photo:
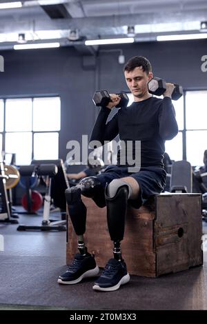
[[[85,243],[88,252],[95,254],[97,265],[104,267],[113,248],[106,207],[99,208],[84,196],[82,199],[88,210]],[[202,265],[201,194],[159,194],[153,205],[139,210],[128,207],[121,251],[129,274],[156,277]],[[70,216],[66,253],[70,264],[77,253]]]

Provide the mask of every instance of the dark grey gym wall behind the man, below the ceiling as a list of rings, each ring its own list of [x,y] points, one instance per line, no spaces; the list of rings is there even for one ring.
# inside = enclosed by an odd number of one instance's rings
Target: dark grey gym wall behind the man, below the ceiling
[[[201,57],[207,54],[206,40],[135,43],[119,48],[126,60],[135,55],[147,57],[158,77],[180,83],[184,89],[207,89],[207,72],[201,72]],[[0,97],[61,96],[59,157],[63,160],[70,139],[80,140],[82,134],[90,134],[98,112],[92,103],[95,89],[127,90],[123,65],[118,63],[119,51],[115,47],[101,50],[104,52],[99,52],[94,66],[70,47],[0,52],[5,59],[5,72],[0,73]]]

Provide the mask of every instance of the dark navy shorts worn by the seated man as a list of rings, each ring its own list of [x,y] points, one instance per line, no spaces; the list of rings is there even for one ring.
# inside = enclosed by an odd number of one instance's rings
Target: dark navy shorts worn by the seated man
[[[139,196],[137,199],[129,200],[130,205],[135,208],[141,207],[151,196],[160,194],[166,185],[166,172],[159,167],[142,167],[139,172],[132,173],[128,172],[127,167],[109,165],[102,174],[97,175],[97,178],[105,188],[106,183],[125,176],[132,176],[139,183]]]

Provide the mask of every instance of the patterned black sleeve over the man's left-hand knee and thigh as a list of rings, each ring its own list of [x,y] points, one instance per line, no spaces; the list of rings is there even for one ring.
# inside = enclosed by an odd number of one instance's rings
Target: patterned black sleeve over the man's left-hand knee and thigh
[[[99,207],[106,206],[104,188],[97,176],[87,176],[79,182],[83,196],[92,198]]]

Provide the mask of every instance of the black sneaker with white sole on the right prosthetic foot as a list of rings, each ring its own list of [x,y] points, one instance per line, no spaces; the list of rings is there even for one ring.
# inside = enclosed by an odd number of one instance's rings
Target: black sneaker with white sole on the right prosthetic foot
[[[117,261],[116,259],[110,259],[92,289],[112,292],[119,289],[120,285],[128,283],[129,280],[130,276],[126,270],[124,260]]]

